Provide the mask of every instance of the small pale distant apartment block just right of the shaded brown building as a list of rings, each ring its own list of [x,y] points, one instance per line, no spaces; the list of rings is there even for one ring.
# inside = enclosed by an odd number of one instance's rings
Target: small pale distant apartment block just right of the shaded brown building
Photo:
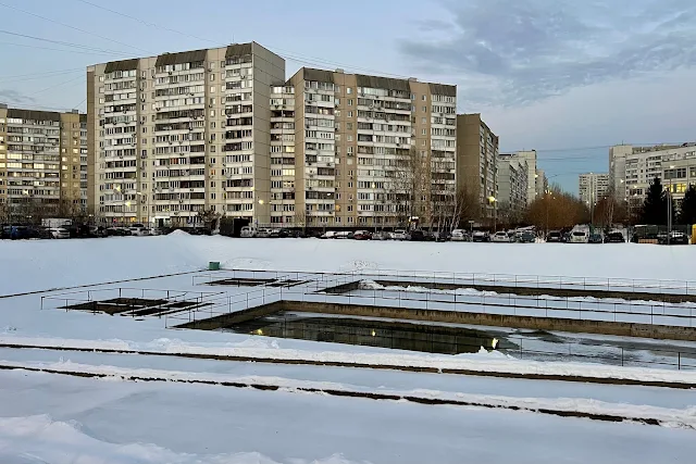
[[[515,154],[498,156],[498,208],[523,213],[527,206],[526,159]]]

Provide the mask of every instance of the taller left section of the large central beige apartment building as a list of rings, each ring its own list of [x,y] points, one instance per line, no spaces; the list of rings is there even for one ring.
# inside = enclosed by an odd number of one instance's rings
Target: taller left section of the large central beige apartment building
[[[87,68],[89,204],[107,223],[271,222],[271,86],[256,42]]]

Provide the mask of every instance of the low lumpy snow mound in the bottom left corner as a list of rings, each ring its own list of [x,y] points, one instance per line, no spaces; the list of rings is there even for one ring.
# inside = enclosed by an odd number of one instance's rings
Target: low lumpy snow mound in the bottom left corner
[[[200,455],[154,444],[115,444],[90,437],[74,422],[48,415],[0,418],[0,462],[12,464],[281,464],[259,453]],[[310,464],[291,460],[288,464]],[[312,464],[351,464],[340,455]]]

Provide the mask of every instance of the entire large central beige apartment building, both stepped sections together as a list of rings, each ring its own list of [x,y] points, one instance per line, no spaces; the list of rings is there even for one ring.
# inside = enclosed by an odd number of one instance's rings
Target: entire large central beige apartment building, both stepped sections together
[[[301,68],[258,43],[88,68],[104,223],[431,222],[456,190],[455,86]],[[442,205],[440,205],[442,203]],[[421,217],[422,216],[422,217]]]

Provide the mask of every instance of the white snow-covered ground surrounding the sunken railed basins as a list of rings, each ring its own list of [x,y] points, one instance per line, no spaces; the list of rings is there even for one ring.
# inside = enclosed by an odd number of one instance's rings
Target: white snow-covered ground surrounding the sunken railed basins
[[[174,234],[94,240],[0,241],[0,296],[137,279],[132,292],[216,292],[196,285],[209,261],[225,268],[425,271],[687,280],[696,248],[637,244],[408,243],[228,239]],[[696,373],[520,361],[499,353],[399,352],[241,334],[173,330],[164,321],[57,310],[114,285],[0,298],[0,462],[352,464],[692,462],[692,390],[437,373],[239,363],[162,354],[459,368],[696,384]],[[150,293],[148,293],[150,292]],[[48,297],[48,298],[47,298]],[[41,298],[45,309],[41,310]],[[209,298],[202,297],[201,298]],[[210,297],[213,298],[213,297]],[[50,349],[53,347],[53,349]],[[63,347],[58,351],[55,347]],[[86,348],[150,354],[76,351]],[[72,349],[72,351],[71,351]],[[35,372],[49,369],[53,374]],[[76,378],[69,373],[105,376]],[[61,374],[62,373],[62,374]],[[198,384],[139,383],[130,377]],[[272,386],[244,389],[204,381]],[[315,389],[315,390],[311,390]],[[322,393],[389,393],[485,407],[415,404]],[[311,392],[314,391],[314,392]],[[521,407],[526,412],[496,407]],[[533,411],[651,418],[661,426]]]

